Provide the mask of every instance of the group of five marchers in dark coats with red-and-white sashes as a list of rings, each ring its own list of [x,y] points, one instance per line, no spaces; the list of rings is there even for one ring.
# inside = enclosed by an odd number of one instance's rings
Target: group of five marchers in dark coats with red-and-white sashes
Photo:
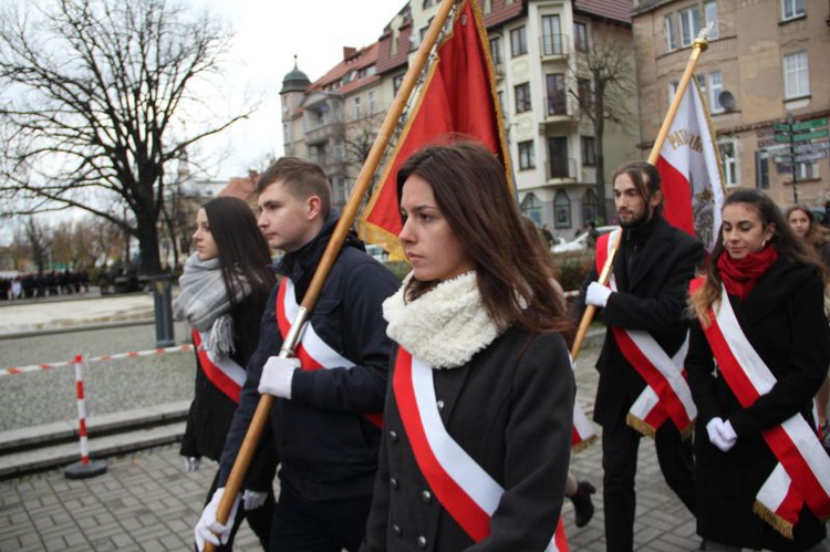
[[[730,194],[704,261],[662,217],[657,170],[626,164],[620,228],[598,237],[569,306],[484,145],[426,146],[396,183],[411,273],[398,283],[350,231],[293,355],[281,350],[338,225],[324,173],[283,157],[260,177],[258,220],[234,198],[199,210],[174,305],[197,345],[185,467],[219,462],[199,550],[229,550],[246,518],[272,551],[564,550],[564,498],[579,527],[593,513],[593,486],[569,472],[569,343],[589,306],[606,326],[593,416],[608,550],[634,550],[643,436],[702,550],[824,550],[830,459],[812,405],[830,365],[828,272],[795,211]],[[269,247],[286,253],[273,271]],[[263,394],[273,406],[222,523]]]

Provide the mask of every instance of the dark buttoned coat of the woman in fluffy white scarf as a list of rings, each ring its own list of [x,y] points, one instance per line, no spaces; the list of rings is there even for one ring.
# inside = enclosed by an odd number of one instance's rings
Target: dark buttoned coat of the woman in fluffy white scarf
[[[575,384],[564,340],[512,327],[467,364],[436,371],[434,378],[447,431],[505,488],[490,535],[474,543],[436,500],[390,387],[361,551],[544,550],[562,508],[573,427]]]

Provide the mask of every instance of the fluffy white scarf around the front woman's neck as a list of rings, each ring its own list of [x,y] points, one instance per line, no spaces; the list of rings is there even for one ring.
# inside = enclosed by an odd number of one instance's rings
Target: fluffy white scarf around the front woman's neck
[[[383,303],[386,334],[433,368],[456,368],[501,334],[481,302],[476,273],[439,283],[411,303],[404,302],[404,279]]]

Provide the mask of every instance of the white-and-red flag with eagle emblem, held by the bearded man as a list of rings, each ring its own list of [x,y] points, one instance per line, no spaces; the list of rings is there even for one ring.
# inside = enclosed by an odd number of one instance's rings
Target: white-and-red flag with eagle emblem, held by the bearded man
[[[712,251],[720,228],[724,178],[715,132],[697,82],[683,94],[656,166],[663,179],[663,215],[668,223]]]

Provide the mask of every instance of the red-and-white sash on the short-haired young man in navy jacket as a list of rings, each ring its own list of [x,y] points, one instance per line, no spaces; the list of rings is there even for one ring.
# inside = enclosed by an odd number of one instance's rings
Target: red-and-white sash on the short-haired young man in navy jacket
[[[300,305],[294,298],[294,282],[284,277],[280,282],[280,289],[277,293],[277,325],[280,329],[280,335],[286,339],[291,322],[297,317]],[[308,322],[302,329],[300,341],[294,348],[294,356],[300,360],[302,369],[321,369],[321,368],[352,368],[354,363],[334,351],[322,337],[314,331],[311,322]],[[363,415],[375,424],[377,427],[383,425],[382,413],[363,413]]]

